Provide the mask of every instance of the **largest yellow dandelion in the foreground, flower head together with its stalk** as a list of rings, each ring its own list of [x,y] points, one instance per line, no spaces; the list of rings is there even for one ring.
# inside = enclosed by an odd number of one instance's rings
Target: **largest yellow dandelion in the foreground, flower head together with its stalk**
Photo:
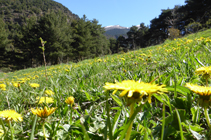
[[[119,94],[120,97],[125,97],[126,102],[130,105],[130,117],[134,113],[134,106],[136,102],[140,102],[143,100],[143,97],[146,97],[144,103],[147,101],[151,103],[151,96],[155,93],[163,94],[167,92],[165,85],[157,85],[152,83],[144,83],[140,81],[134,80],[124,80],[122,82],[116,83],[105,83],[104,88],[106,90],[114,90],[113,94],[117,91],[121,91]],[[127,130],[127,135],[125,140],[130,139],[130,134],[132,130],[132,123]]]

